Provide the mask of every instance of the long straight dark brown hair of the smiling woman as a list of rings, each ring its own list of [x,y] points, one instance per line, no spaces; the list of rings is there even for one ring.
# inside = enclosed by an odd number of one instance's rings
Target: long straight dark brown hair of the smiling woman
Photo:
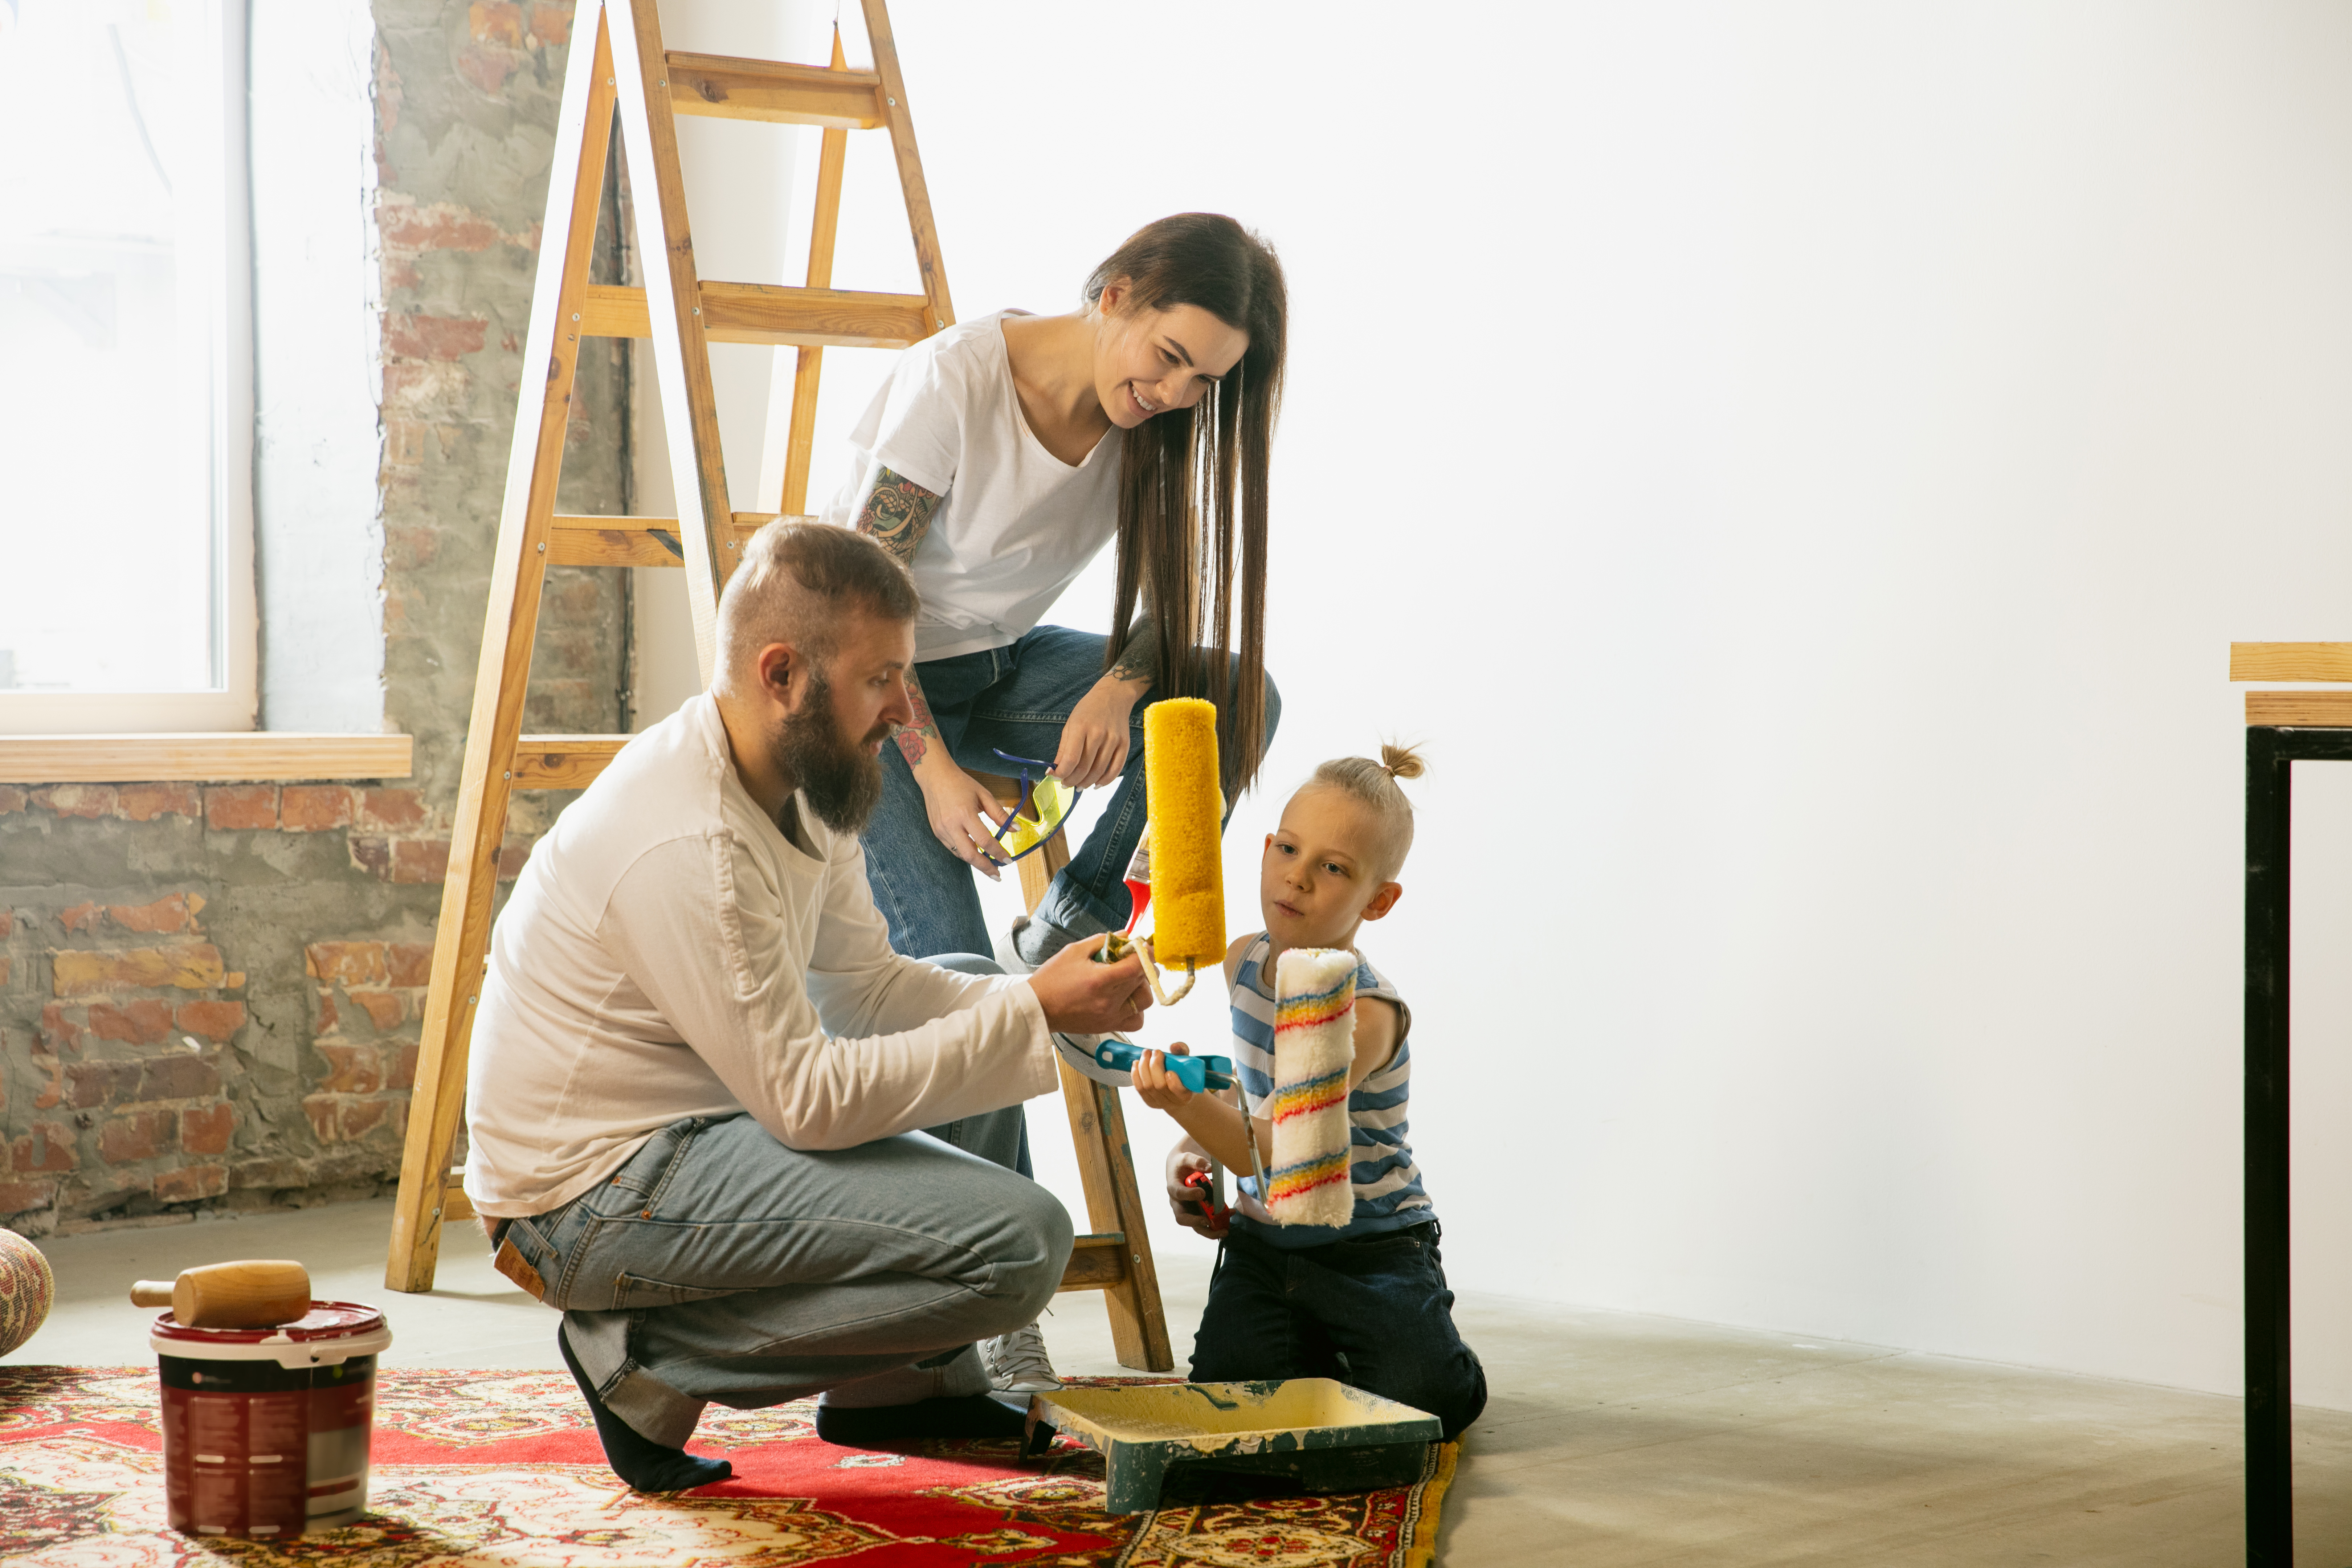
[[[1162,696],[1216,703],[1225,797],[1265,752],[1265,468],[1282,407],[1287,299],[1265,240],[1214,212],[1145,223],[1087,280],[1127,280],[1127,310],[1197,306],[1249,348],[1190,409],[1152,414],[1120,449],[1120,588],[1105,668],[1138,599],[1160,625]]]

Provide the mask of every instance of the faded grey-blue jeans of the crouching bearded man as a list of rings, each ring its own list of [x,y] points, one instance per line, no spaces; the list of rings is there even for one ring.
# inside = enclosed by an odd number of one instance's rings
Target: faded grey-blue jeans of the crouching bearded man
[[[689,1117],[506,1239],[607,1408],[682,1448],[710,1401],[804,1399],[1033,1321],[1070,1260],[1070,1215],[1011,1171],[1021,1126],[1009,1105],[788,1150],[748,1114]]]

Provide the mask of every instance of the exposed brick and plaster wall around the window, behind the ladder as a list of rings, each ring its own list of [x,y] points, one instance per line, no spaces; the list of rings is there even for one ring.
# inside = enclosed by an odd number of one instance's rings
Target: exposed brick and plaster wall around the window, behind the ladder
[[[0,785],[14,1229],[400,1166],[569,33],[567,2],[254,5],[263,712],[407,731],[416,773]],[[623,510],[626,388],[619,346],[581,355],[567,510]],[[550,574],[527,729],[619,726],[619,578]],[[562,799],[522,797],[508,877]]]

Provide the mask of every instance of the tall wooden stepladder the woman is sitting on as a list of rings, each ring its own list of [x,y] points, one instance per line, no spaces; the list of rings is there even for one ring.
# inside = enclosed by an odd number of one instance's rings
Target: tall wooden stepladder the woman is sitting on
[[[449,1152],[463,1114],[466,1048],[489,954],[499,842],[510,797],[515,790],[579,790],[628,743],[628,736],[522,733],[522,696],[546,569],[550,564],[682,567],[694,611],[694,654],[708,684],[720,590],[741,559],[743,543],[774,517],[800,515],[807,508],[823,350],[906,348],[955,322],[889,12],[884,0],[861,0],[861,5],[875,56],[873,71],[849,71],[837,35],[830,66],[790,66],[668,52],[661,45],[656,0],[581,0],[574,12],[572,66],[564,78],[555,174],[548,181],[548,219],[541,230],[539,282],[522,360],[515,449],[499,515],[482,665],[466,731],[449,879],[433,936],[416,1091],[409,1103],[400,1199],[383,1272],[383,1284],[393,1291],[430,1291],[442,1222],[473,1218],[449,1168]],[[614,113],[621,118],[621,146],[637,176],[637,249],[647,261],[642,289],[588,282]],[[696,275],[675,115],[823,127],[807,287],[706,282]],[[922,294],[858,294],[830,287],[842,165],[851,129],[889,132]],[[555,515],[572,378],[586,336],[652,339],[677,517]],[[710,388],[710,343],[769,343],[800,350],[774,496],[776,512],[729,508]],[[1033,863],[1056,853],[1068,851],[1056,842],[1023,860],[1025,877],[1035,877]],[[1037,891],[1042,882],[1030,891],[1033,905]],[[1068,1067],[1063,1067],[1063,1093],[1096,1234],[1080,1237],[1061,1288],[1105,1291],[1120,1361],[1143,1371],[1169,1371],[1174,1359],[1167,1319],[1117,1093]]]

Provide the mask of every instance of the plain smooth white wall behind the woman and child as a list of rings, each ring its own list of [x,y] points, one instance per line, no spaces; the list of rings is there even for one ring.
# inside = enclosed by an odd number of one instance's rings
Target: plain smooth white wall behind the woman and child
[[[1232,919],[1282,785],[1428,743],[1367,950],[1454,1281],[2234,1389],[2223,658],[2352,630],[2352,14],[894,21],[962,315],[1185,207],[1287,259]],[[837,277],[908,287],[870,172]],[[2298,1394],[2352,1406],[2352,780],[2312,795]]]

